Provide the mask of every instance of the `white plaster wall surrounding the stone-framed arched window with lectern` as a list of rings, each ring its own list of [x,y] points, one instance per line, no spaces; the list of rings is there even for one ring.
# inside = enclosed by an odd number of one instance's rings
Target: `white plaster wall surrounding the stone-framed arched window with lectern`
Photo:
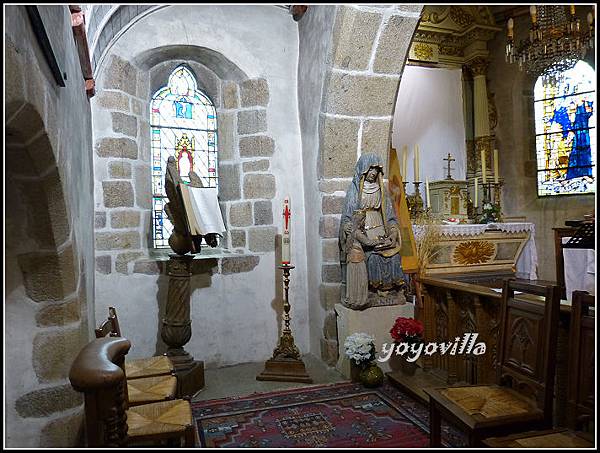
[[[143,52],[165,45],[194,45],[215,50],[249,78],[264,78],[268,82],[267,135],[273,137],[276,144],[269,169],[277,181],[273,216],[280,229],[283,199],[290,196],[292,264],[296,266],[290,289],[292,326],[298,347],[307,352],[305,205],[296,88],[297,24],[286,10],[273,6],[170,6],[134,24],[119,38],[111,52],[132,61]],[[108,127],[106,120],[99,118],[98,127]],[[96,166],[95,171],[98,181],[99,174],[105,170]],[[96,193],[96,200],[101,199],[101,193]],[[194,291],[193,337],[186,349],[197,359],[220,366],[260,361],[272,354],[278,336],[272,300],[276,273],[281,271],[276,269],[275,253],[262,255],[260,264],[253,271],[230,276],[213,275],[209,288]],[[107,307],[116,304],[118,313],[123,313],[123,332],[134,344],[132,355],[155,352],[157,281],[157,276],[97,274],[97,319],[104,318]],[[209,347],[209,341],[217,338],[224,344]]]

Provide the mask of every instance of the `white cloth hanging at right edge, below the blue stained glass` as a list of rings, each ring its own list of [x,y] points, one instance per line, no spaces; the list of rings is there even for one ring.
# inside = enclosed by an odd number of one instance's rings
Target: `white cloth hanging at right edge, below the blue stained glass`
[[[565,244],[570,237],[563,237]],[[565,268],[565,289],[567,300],[575,290],[587,291],[595,295],[596,251],[592,249],[562,249]]]

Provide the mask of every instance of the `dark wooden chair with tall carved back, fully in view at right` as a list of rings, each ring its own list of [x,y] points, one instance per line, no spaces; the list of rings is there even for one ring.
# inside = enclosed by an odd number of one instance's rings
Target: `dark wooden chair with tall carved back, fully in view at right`
[[[496,384],[424,389],[431,447],[441,446],[441,417],[467,433],[469,446],[552,427],[559,304],[558,286],[504,281]]]

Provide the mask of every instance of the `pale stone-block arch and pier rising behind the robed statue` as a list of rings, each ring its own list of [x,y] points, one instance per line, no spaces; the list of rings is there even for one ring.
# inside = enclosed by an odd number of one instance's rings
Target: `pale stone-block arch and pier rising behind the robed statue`
[[[323,7],[310,7],[302,20],[326,29],[330,13],[317,8]],[[322,359],[332,366],[338,351],[333,306],[340,300],[338,229],[345,192],[361,153],[377,153],[387,162],[398,86],[421,9],[422,5],[337,6],[328,50],[313,46],[315,55],[325,54],[325,60],[322,82],[306,76],[309,86],[318,89],[322,83],[319,153],[315,161],[305,162],[316,168],[319,194],[317,203],[307,203],[315,210],[308,216],[318,220],[320,238],[311,242],[313,250],[308,252],[311,265],[318,263],[313,278],[319,282],[321,301],[319,309],[311,311],[311,344],[319,343]],[[320,68],[319,61],[316,64]],[[314,189],[307,186],[306,193]]]

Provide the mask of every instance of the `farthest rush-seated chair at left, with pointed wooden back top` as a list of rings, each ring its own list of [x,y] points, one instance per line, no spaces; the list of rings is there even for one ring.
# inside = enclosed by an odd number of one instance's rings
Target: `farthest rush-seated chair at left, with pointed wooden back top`
[[[120,337],[121,328],[117,318],[117,310],[108,308],[108,319],[96,329],[96,338],[106,336]],[[127,379],[164,376],[174,373],[173,363],[166,355],[153,356],[142,359],[131,359],[125,362]]]

